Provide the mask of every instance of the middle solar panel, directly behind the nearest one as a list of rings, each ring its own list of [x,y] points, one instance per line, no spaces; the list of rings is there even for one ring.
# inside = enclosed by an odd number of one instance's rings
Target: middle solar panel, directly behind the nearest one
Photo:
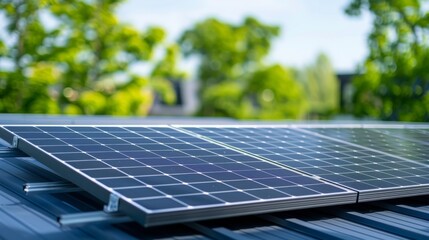
[[[279,126],[183,128],[198,136],[354,189],[359,192],[359,201],[421,195],[429,190],[429,166],[372,150],[371,146],[364,148]],[[344,139],[341,137],[343,130],[331,136]],[[310,128],[308,131],[330,135],[319,129]],[[389,138],[396,140],[391,136]],[[355,139],[369,141],[364,135]],[[417,150],[409,145],[404,149]],[[423,152],[427,153],[427,148]]]

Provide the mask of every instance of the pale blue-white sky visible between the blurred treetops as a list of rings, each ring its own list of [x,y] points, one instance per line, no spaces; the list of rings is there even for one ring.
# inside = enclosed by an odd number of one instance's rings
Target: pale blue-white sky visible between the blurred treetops
[[[349,17],[344,8],[351,0],[128,0],[118,9],[121,21],[138,29],[151,25],[166,29],[168,41],[208,17],[239,24],[246,16],[281,27],[274,40],[269,63],[302,68],[319,53],[330,58],[339,73],[356,70],[368,50],[371,17]],[[182,64],[192,69],[195,62]]]

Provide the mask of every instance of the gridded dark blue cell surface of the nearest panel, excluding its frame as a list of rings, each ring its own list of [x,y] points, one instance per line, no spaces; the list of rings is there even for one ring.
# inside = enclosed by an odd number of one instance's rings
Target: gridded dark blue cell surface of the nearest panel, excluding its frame
[[[5,128],[147,212],[352,193],[168,127]]]

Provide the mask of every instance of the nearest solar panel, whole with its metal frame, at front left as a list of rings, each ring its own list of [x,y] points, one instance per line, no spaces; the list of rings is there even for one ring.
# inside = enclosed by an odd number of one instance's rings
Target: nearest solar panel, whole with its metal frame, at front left
[[[356,202],[356,192],[166,126],[3,126],[0,136],[143,225]],[[118,200],[119,199],[119,200]]]

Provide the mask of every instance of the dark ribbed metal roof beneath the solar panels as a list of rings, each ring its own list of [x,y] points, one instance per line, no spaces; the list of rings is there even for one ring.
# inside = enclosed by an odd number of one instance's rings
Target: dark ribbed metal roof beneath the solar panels
[[[174,118],[0,115],[0,124],[148,121],[201,123],[199,119]],[[216,119],[209,121],[219,123]],[[58,216],[99,211],[103,206],[85,192],[26,195],[23,191],[25,183],[58,181],[64,180],[0,141],[0,239],[429,239],[429,195],[155,228],[112,221],[62,227],[56,221]]]

